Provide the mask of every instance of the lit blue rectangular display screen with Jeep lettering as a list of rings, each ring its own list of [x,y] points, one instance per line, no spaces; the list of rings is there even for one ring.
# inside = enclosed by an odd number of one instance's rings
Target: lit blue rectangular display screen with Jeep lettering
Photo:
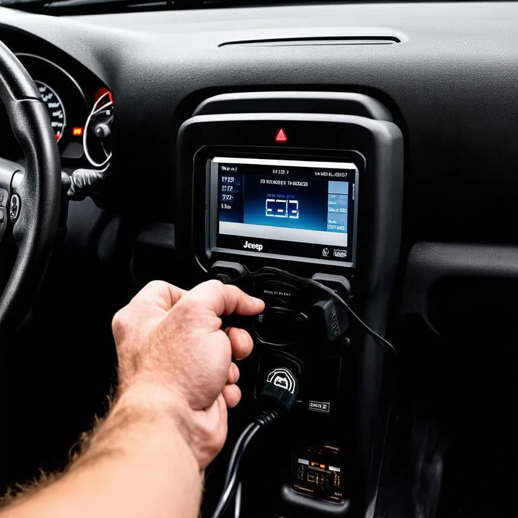
[[[219,248],[352,262],[354,164],[217,157],[212,173]]]

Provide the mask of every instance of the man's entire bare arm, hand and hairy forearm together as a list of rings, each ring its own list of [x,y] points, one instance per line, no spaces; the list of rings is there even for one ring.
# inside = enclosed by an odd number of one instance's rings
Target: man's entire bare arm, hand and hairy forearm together
[[[261,300],[209,281],[186,292],[151,282],[113,318],[119,394],[81,454],[2,518],[195,518],[200,470],[221,450],[227,406],[241,394],[232,356],[252,339],[220,315],[253,315]]]

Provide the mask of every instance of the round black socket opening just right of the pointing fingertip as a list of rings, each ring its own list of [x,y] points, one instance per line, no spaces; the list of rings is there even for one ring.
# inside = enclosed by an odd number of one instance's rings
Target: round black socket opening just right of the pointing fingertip
[[[302,315],[283,307],[266,308],[253,322],[254,334],[271,346],[289,346],[300,341],[304,334]]]

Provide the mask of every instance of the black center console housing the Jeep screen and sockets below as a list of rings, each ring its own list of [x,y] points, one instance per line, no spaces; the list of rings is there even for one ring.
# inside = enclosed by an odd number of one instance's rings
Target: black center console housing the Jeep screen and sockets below
[[[295,410],[247,457],[242,517],[363,516],[375,505],[387,352],[343,308],[307,296],[290,275],[333,290],[384,335],[402,177],[399,127],[362,94],[222,94],[180,128],[175,281],[189,288],[246,279],[266,303],[255,318],[225,323],[254,339],[239,364],[242,402],[229,416],[228,442],[249,422],[267,378],[285,387],[294,373],[300,382]],[[226,455],[207,476],[207,516]]]

